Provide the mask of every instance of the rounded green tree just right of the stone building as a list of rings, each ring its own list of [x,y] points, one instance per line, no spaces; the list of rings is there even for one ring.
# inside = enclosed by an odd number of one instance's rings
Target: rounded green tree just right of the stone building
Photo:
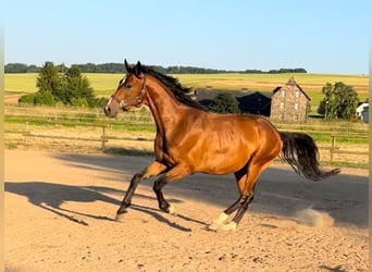
[[[342,82],[336,82],[334,85],[326,83],[322,92],[324,98],[319,104],[318,113],[324,115],[326,120],[348,120],[356,113],[359,98],[351,86]]]

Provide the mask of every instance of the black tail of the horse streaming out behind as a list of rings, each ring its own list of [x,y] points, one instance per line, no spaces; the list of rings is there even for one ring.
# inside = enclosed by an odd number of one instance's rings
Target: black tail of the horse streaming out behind
[[[339,169],[332,171],[321,169],[318,147],[309,135],[286,132],[280,134],[283,141],[281,158],[298,174],[302,174],[308,180],[320,181],[339,173]]]

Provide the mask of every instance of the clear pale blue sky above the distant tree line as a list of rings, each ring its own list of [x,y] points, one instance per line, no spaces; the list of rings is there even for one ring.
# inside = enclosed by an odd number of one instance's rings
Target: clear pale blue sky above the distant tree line
[[[368,0],[12,0],[4,63],[368,74]]]

